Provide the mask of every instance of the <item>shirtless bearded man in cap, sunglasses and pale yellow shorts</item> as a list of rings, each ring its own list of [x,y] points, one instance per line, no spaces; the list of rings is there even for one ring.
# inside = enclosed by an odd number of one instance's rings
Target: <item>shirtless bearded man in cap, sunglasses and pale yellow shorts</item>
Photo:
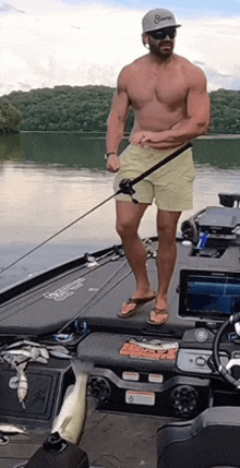
[[[209,124],[209,98],[204,73],[187,59],[173,53],[177,27],[173,14],[164,9],[143,17],[144,57],[125,67],[108,119],[107,168],[117,172],[115,189],[123,178],[133,180],[176,148],[206,133]],[[135,113],[131,144],[118,156],[130,108]],[[120,313],[128,317],[156,297],[148,322],[161,325],[169,317],[168,290],[177,259],[176,231],[183,209],[192,208],[195,177],[192,152],[183,152],[146,180],[134,185],[139,204],[130,195],[117,196],[117,231],[136,280],[132,298]],[[134,196],[135,196],[134,195]],[[137,230],[152,203],[157,204],[159,287],[153,291],[147,268],[147,252]]]

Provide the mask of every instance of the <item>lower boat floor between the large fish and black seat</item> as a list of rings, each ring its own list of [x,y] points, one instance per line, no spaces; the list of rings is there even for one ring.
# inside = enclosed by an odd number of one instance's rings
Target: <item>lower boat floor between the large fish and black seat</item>
[[[155,468],[156,432],[169,418],[95,411],[80,444],[94,467]]]

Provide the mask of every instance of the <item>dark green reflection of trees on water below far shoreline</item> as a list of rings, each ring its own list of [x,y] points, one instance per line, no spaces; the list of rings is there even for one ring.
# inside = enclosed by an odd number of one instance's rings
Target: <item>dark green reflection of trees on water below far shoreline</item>
[[[236,135],[233,135],[236,136]],[[194,142],[194,160],[219,169],[240,167],[240,136],[200,139]],[[38,165],[105,169],[105,134],[77,132],[23,132],[0,136],[0,159]],[[122,143],[122,148],[128,139]]]

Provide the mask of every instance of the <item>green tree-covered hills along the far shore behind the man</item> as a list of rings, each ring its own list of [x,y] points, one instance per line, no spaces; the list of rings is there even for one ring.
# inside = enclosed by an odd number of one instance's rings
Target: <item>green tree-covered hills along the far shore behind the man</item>
[[[0,97],[0,133],[17,131],[106,132],[115,88],[56,86]],[[212,134],[240,134],[240,91],[209,93]],[[131,130],[131,111],[125,131]]]

